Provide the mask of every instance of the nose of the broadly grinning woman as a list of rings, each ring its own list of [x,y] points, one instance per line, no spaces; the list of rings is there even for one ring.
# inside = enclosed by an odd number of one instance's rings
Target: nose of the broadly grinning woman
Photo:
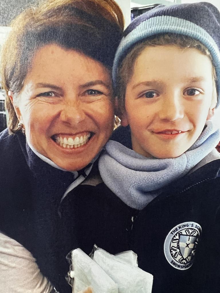
[[[84,119],[85,113],[79,102],[65,103],[62,106],[60,113],[60,120],[62,120],[62,122],[74,126],[82,122]]]

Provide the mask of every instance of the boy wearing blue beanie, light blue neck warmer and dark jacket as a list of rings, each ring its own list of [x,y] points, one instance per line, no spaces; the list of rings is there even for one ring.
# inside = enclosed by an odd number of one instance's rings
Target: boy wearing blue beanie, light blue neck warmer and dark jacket
[[[128,26],[114,61],[127,128],[106,144],[99,170],[136,210],[129,249],[156,293],[219,292],[219,25],[205,2],[158,6]]]

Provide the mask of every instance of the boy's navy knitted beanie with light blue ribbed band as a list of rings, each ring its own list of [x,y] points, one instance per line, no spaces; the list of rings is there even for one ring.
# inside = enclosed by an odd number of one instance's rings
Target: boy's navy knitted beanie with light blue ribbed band
[[[158,34],[175,33],[198,40],[209,50],[216,70],[216,89],[220,103],[220,13],[212,4],[159,5],[135,18],[126,28],[116,51],[113,84],[116,87],[118,68],[123,58],[138,42]]]

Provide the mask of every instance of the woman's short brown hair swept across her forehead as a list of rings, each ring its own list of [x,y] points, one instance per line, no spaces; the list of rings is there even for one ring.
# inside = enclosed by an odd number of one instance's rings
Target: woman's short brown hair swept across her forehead
[[[19,99],[35,52],[48,43],[78,50],[111,68],[121,40],[124,18],[114,0],[46,0],[23,11],[11,23],[3,46],[1,84],[6,91],[9,132],[19,130],[8,96]]]

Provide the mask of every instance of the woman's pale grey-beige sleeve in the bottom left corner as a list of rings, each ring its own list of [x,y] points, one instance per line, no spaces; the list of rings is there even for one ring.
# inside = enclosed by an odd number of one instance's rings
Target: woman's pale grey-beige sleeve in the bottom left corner
[[[32,254],[14,239],[0,233],[0,292],[50,293],[52,290]]]

